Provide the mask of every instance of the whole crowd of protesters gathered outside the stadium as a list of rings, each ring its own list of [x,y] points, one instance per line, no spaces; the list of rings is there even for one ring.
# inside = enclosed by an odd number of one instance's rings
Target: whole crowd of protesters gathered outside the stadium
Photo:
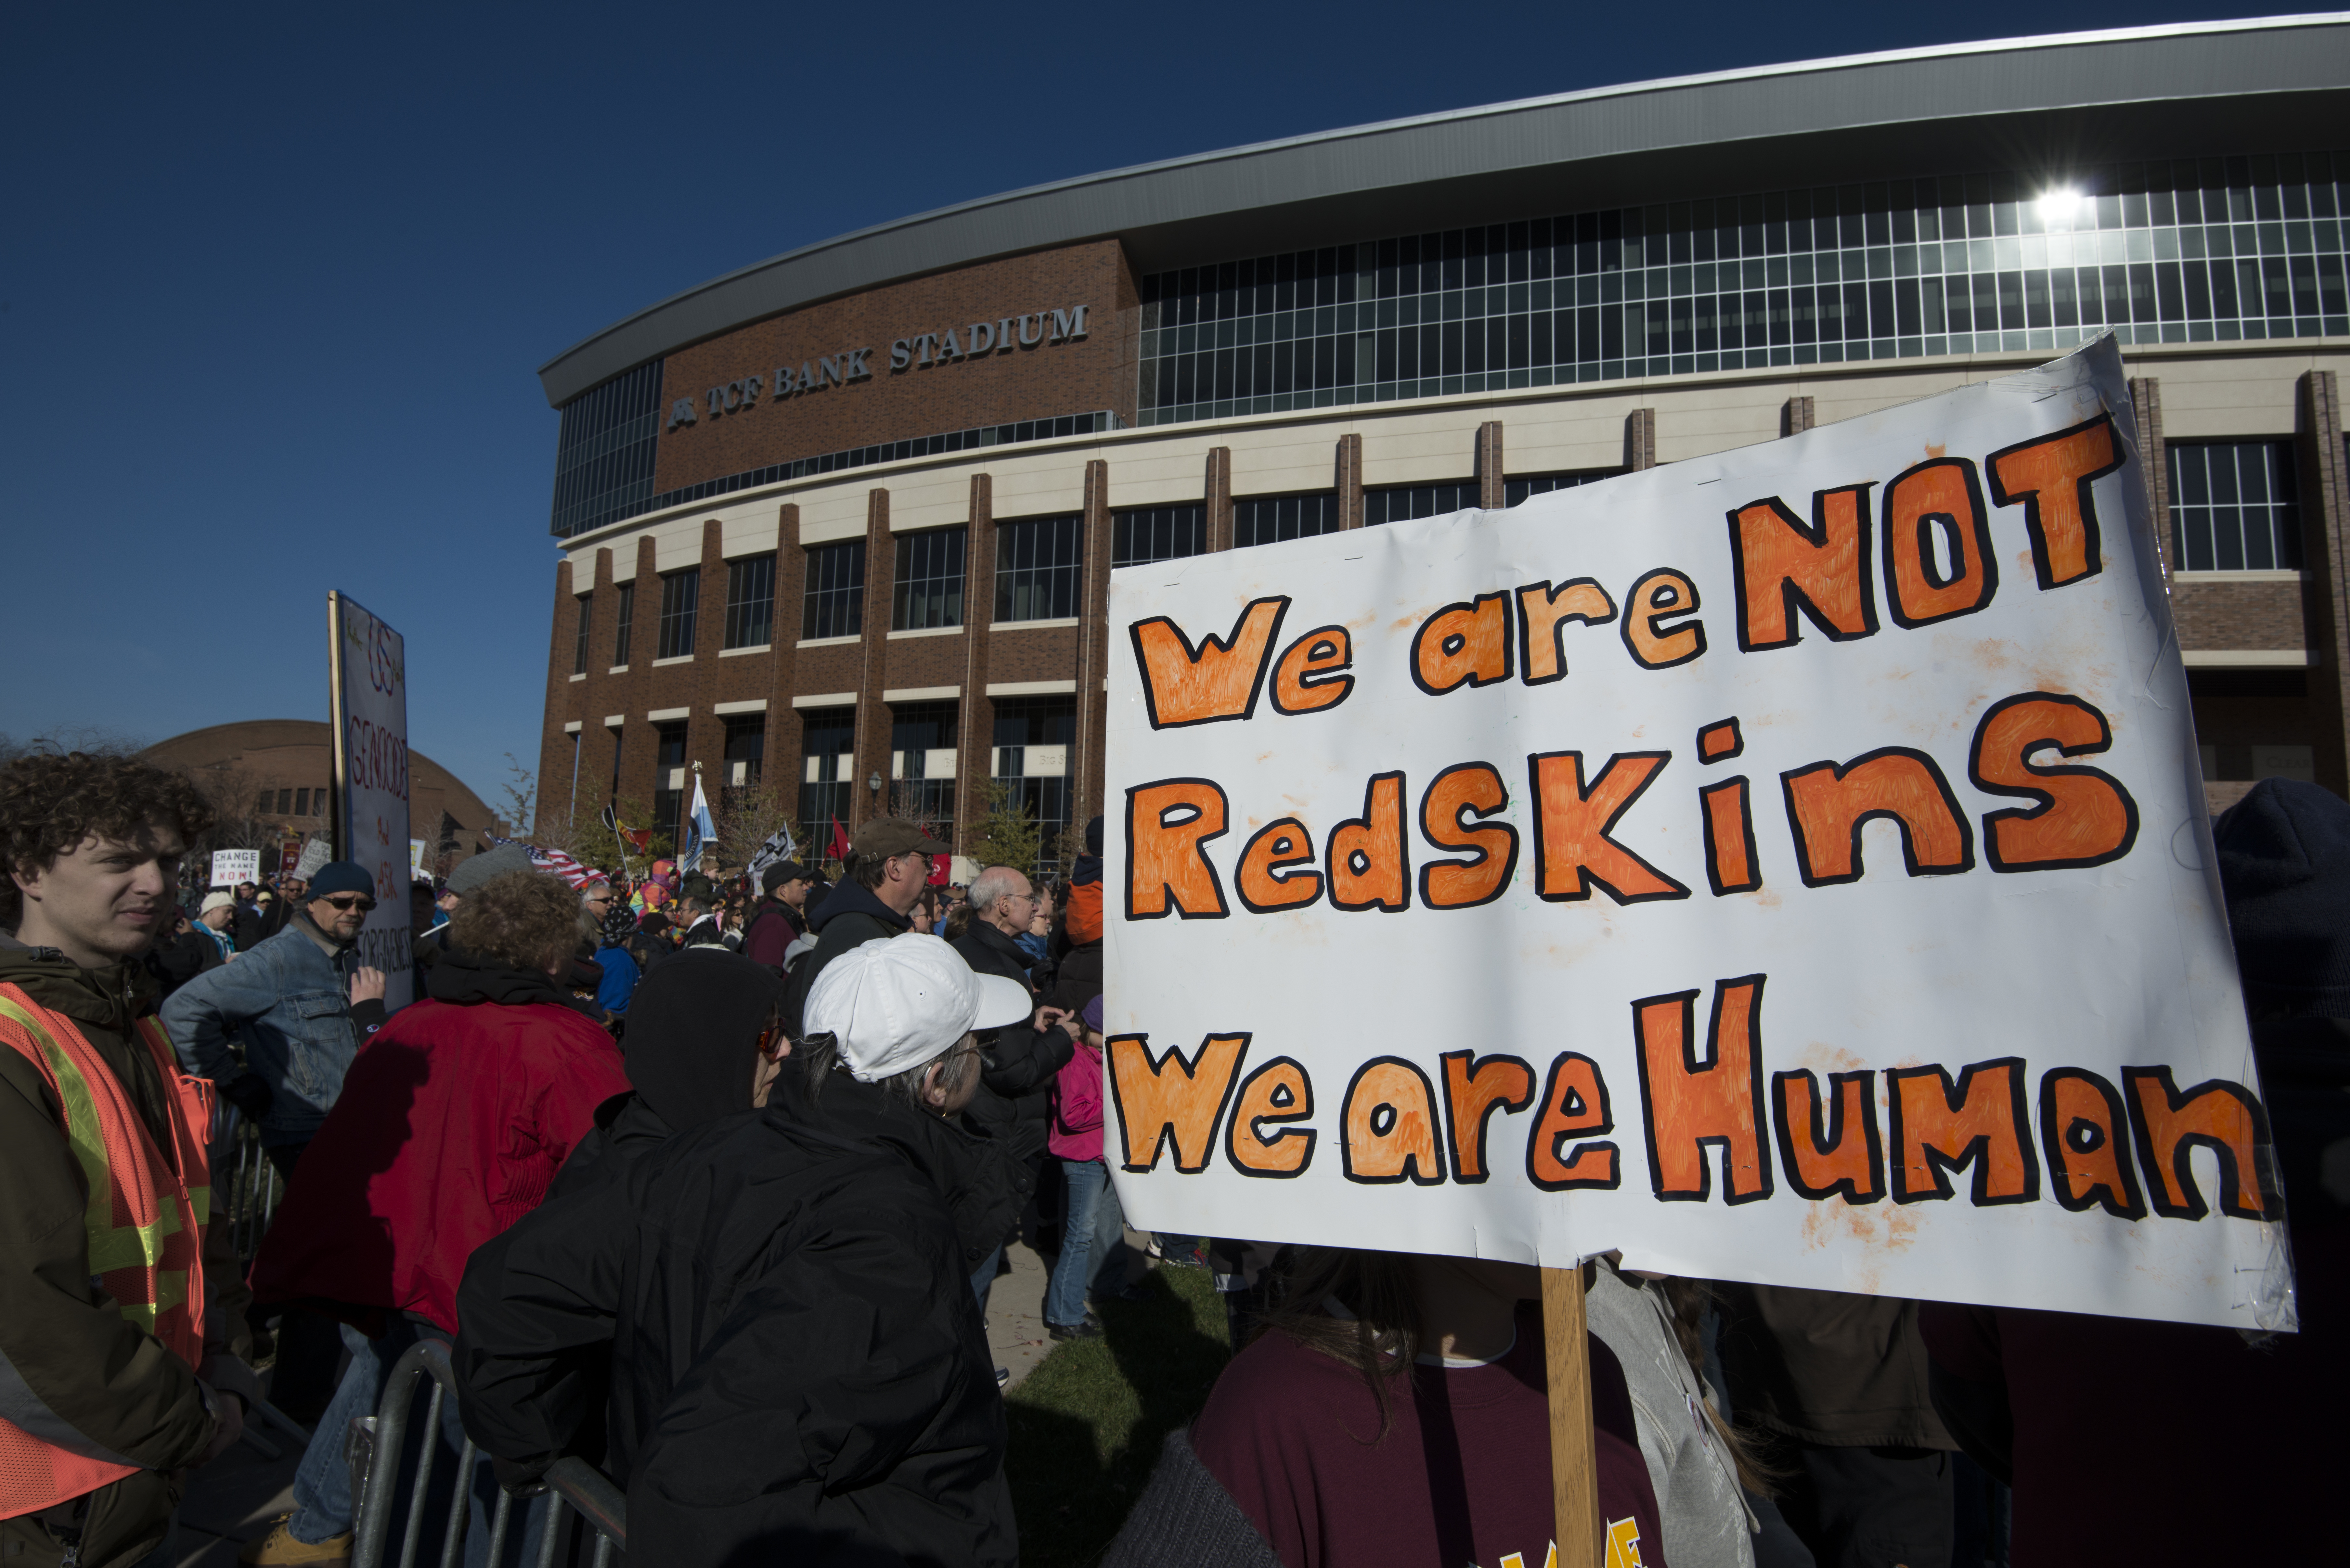
[[[454,1361],[439,1507],[522,1561],[580,1458],[644,1563],[1013,1563],[1006,1246],[1053,1340],[1130,1291],[1104,1150],[1102,825],[1067,882],[865,823],[797,860],[642,877],[477,853],[404,889],[414,999],[357,961],[350,863],[188,898],[212,811],[120,757],[0,769],[0,1563],[172,1561],[188,1472],[263,1380],[315,1422],[247,1563],[350,1559],[352,1418]],[[2322,1561],[2350,1185],[2350,806],[2218,820],[2301,1333],[2240,1335],[1584,1265],[1607,1561],[1859,1568]],[[193,907],[188,907],[193,903]],[[249,1124],[284,1197],[249,1267],[209,1211]],[[1048,1225],[1058,1220],[1058,1241]],[[1154,1237],[1236,1356],[1107,1549],[1121,1568],[1549,1561],[1539,1274]],[[2232,1439],[2223,1434],[2237,1434]],[[2225,1441],[2197,1495],[2148,1479]],[[501,1488],[533,1495],[503,1547]],[[2012,1497],[2012,1523],[2000,1516]],[[2012,1530],[2012,1537],[2009,1537]],[[425,1547],[430,1549],[430,1547]],[[2334,1547],[2338,1549],[2338,1547]]]

